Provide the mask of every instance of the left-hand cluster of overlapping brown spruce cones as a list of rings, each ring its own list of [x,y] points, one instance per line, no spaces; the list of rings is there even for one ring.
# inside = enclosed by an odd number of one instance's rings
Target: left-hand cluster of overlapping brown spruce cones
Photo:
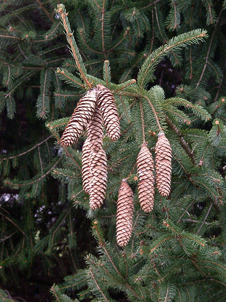
[[[115,99],[103,85],[88,91],[80,99],[61,137],[61,144],[70,146],[87,129],[82,147],[82,183],[89,194],[91,209],[103,203],[107,183],[107,160],[103,145],[103,124],[108,137],[115,141],[120,136],[119,115]]]

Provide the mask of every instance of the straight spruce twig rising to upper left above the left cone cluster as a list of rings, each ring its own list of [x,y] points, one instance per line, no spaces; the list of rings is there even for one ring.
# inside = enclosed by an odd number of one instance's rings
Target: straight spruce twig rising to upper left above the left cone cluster
[[[74,39],[74,36],[71,32],[71,28],[70,28],[70,25],[69,25],[69,22],[68,22],[68,19],[67,19],[67,13],[65,11],[65,6],[63,4],[60,4],[57,6],[57,12],[60,14],[61,16],[61,20],[63,22],[63,26],[64,26],[64,29],[66,31],[66,35],[67,35],[67,41],[69,42],[70,44],[70,48],[71,48],[71,51],[72,51],[72,55],[76,61],[76,65],[77,65],[77,68],[81,74],[81,77],[84,81],[84,83],[86,84],[86,86],[91,89],[91,84],[88,82],[87,78],[86,78],[86,69],[85,69],[85,66],[83,64],[83,61],[82,61],[82,58],[81,58],[81,55],[79,53],[79,50],[78,50],[78,47],[77,47],[77,44],[75,42],[75,39]]]

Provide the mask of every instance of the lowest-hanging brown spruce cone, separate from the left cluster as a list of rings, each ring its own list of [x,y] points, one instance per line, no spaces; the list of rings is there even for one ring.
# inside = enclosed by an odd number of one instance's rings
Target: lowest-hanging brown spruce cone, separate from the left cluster
[[[125,247],[132,235],[134,195],[126,179],[119,189],[116,215],[116,237],[120,247]]]

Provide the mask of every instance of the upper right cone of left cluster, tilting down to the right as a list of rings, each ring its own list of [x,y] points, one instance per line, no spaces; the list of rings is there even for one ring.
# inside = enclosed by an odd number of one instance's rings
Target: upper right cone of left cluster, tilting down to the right
[[[103,85],[98,84],[96,88],[97,105],[102,115],[107,136],[115,141],[120,137],[120,122],[114,96]]]

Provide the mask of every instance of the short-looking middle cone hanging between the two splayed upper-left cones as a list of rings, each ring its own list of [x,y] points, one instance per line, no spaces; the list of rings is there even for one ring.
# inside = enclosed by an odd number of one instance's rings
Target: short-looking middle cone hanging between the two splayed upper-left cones
[[[103,144],[103,122],[99,108],[95,107],[95,112],[87,125],[88,137],[90,140],[91,148],[98,152]]]

